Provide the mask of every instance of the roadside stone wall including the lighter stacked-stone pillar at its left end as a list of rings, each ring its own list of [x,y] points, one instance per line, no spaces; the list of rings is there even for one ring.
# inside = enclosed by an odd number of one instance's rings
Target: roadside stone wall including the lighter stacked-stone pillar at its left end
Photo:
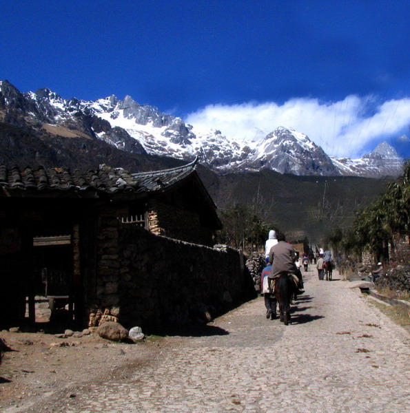
[[[144,328],[209,321],[252,297],[252,277],[239,251],[189,244],[101,216],[96,301],[89,325],[102,320]]]

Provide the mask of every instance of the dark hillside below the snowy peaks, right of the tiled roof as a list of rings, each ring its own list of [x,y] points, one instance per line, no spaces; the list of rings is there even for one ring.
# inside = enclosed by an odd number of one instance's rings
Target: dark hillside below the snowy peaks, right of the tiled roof
[[[252,204],[259,193],[269,210],[267,223],[289,238],[306,235],[312,243],[320,242],[332,228],[349,227],[354,212],[391,182],[389,178],[295,176],[268,170],[224,176],[209,175],[203,169],[199,173],[221,211],[235,202]]]

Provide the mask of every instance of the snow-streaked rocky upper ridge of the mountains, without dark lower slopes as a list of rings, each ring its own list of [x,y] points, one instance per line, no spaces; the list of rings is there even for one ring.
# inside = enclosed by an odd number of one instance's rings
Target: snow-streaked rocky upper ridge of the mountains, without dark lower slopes
[[[44,133],[98,139],[121,151],[202,162],[219,173],[263,168],[295,175],[398,176],[403,160],[387,143],[358,160],[329,158],[309,138],[278,127],[258,142],[240,141],[215,129],[201,130],[181,118],[140,105],[131,96],[63,99],[49,89],[19,92],[0,82],[0,120],[25,123]],[[40,132],[39,132],[40,133]]]

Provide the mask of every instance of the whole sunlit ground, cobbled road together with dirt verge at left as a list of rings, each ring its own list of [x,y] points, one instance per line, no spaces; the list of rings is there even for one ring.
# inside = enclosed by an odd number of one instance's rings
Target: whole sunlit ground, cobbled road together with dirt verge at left
[[[82,337],[55,348],[34,335],[39,343],[6,353],[0,410],[408,412],[409,333],[337,272],[332,282],[304,277],[289,326],[266,319],[259,297],[203,329],[138,345]],[[2,337],[14,348],[24,335]]]

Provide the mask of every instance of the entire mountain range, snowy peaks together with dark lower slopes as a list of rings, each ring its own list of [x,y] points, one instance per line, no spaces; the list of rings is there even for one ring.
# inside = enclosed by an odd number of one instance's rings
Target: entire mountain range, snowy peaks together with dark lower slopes
[[[387,143],[358,160],[336,159],[290,128],[258,142],[200,131],[130,96],[66,100],[50,89],[21,93],[0,82],[0,165],[154,171],[201,158],[197,171],[220,211],[263,205],[267,224],[317,242],[346,228],[402,171]],[[300,239],[300,238],[299,238]]]

